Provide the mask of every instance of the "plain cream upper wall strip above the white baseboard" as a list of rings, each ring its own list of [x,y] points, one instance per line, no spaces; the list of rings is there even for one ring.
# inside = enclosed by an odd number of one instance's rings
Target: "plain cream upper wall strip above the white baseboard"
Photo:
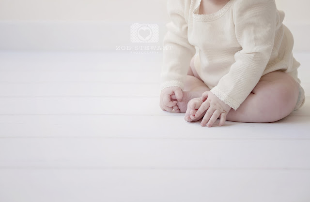
[[[168,20],[167,0],[0,0],[0,20]],[[309,0],[276,0],[286,20],[310,21]]]

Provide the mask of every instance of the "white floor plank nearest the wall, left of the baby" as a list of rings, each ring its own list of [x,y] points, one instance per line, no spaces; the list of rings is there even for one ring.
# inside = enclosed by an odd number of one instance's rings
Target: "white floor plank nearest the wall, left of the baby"
[[[122,51],[0,51],[0,71],[153,71],[160,69],[161,60],[161,53],[141,55]]]

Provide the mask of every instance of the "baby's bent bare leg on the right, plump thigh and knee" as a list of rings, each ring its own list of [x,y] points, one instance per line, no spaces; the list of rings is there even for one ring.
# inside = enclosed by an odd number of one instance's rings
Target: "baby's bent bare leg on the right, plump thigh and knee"
[[[298,93],[298,84],[287,73],[267,73],[240,107],[229,111],[226,120],[250,123],[278,121],[294,110]]]

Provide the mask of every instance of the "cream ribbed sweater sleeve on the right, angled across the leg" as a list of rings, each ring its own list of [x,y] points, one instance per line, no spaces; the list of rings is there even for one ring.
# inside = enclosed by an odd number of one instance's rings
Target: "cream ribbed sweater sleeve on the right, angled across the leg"
[[[274,47],[277,24],[274,0],[237,0],[233,5],[235,34],[242,50],[230,71],[211,89],[237,110],[262,77]]]

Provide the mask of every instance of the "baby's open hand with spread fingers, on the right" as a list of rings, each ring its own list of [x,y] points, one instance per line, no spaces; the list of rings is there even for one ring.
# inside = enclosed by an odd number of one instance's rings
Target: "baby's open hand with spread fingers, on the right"
[[[212,127],[214,122],[220,116],[218,126],[222,126],[226,121],[226,115],[232,109],[232,107],[217,98],[217,96],[214,95],[211,91],[205,91],[202,94],[202,101],[202,105],[199,107],[195,114],[196,117],[199,117],[207,110],[202,118],[200,125],[205,126],[206,123],[208,123],[207,127]]]

